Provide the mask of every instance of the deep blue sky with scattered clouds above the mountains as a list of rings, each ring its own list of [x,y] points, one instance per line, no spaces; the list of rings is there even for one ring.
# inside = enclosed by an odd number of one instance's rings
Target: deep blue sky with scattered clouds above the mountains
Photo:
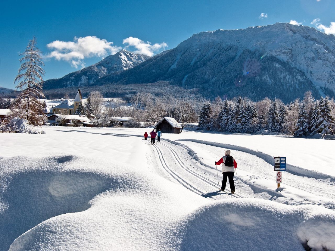
[[[120,49],[154,55],[201,31],[292,22],[335,34],[334,13],[334,0],[4,1],[0,86],[15,88],[18,54],[33,36],[46,80]]]

